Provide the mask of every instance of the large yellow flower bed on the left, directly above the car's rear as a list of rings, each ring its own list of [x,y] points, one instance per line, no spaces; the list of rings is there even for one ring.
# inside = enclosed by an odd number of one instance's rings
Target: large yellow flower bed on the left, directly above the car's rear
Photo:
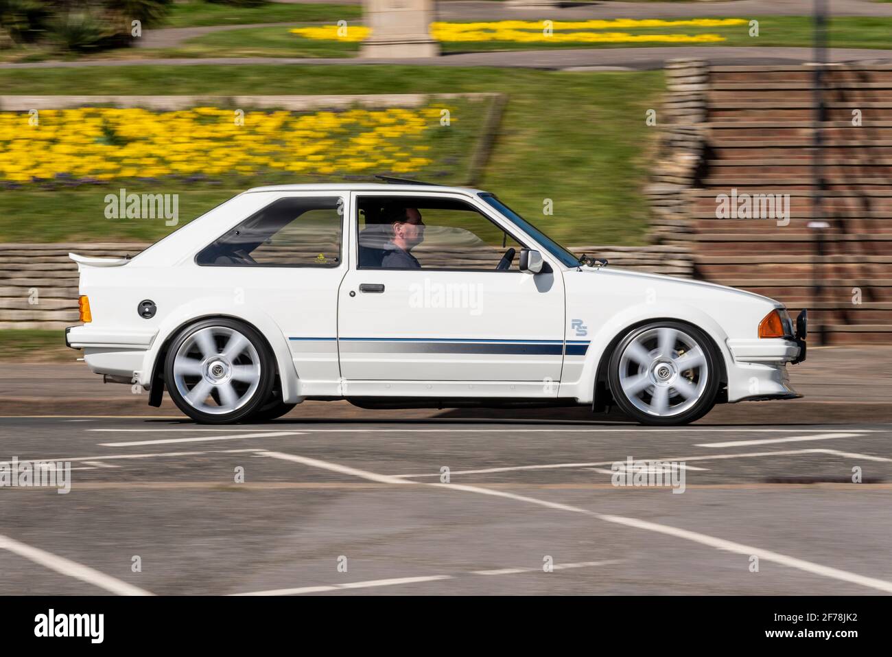
[[[431,160],[424,133],[441,107],[346,112],[178,112],[128,108],[0,112],[0,180],[219,177],[267,170],[406,173]],[[456,121],[453,117],[451,121]]]

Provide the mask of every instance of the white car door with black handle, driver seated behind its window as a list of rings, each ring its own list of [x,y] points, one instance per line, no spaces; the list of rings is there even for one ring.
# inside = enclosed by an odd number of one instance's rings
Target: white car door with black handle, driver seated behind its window
[[[363,243],[374,226],[360,223],[388,204],[424,215],[425,242],[411,249],[420,268],[360,261],[360,249],[366,257],[384,245],[384,237]],[[518,270],[520,248],[527,245],[523,237],[516,230],[502,235],[500,220],[468,196],[356,192],[351,207],[351,267],[338,294],[342,377],[416,384],[353,386],[353,394],[424,395],[438,389],[475,396],[496,388],[474,382],[491,382],[506,384],[498,387],[499,396],[556,395],[552,383],[560,379],[564,347],[564,289],[557,267],[536,275]],[[387,221],[380,224],[385,232]],[[511,268],[496,270],[509,242],[516,245]],[[400,254],[396,262],[409,260]]]

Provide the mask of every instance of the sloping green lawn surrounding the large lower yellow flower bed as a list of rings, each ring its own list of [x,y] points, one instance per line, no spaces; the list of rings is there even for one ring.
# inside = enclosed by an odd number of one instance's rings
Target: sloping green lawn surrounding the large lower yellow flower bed
[[[8,94],[84,95],[504,92],[508,107],[479,186],[567,244],[635,245],[643,243],[648,226],[641,190],[656,137],[645,112],[658,106],[663,76],[370,65],[128,66],[3,70],[0,87]],[[258,177],[244,187],[266,182]],[[180,191],[180,217],[188,220],[244,187],[186,191],[185,184],[169,183],[156,191]],[[0,240],[127,240],[169,231],[162,221],[106,220],[104,194],[99,188],[3,192]],[[543,216],[547,198],[554,213]]]

